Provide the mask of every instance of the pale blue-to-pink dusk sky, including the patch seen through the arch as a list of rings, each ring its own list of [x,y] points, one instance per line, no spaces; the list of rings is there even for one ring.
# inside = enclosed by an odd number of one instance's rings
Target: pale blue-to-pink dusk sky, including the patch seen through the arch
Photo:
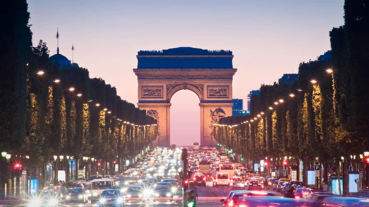
[[[137,103],[139,50],[189,46],[232,50],[234,98],[261,84],[297,73],[300,62],[330,49],[328,32],[344,23],[343,0],[290,1],[97,1],[29,0],[33,43],[42,39]],[[134,90],[132,90],[134,89]],[[172,98],[171,142],[199,141],[199,98],[179,91]],[[184,140],[184,138],[186,140]]]

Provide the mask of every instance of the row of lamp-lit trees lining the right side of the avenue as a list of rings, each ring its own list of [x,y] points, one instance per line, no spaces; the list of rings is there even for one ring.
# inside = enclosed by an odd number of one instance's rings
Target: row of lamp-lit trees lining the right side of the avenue
[[[298,167],[302,160],[305,183],[314,162],[323,164],[325,181],[328,172],[347,178],[349,165],[362,166],[369,150],[368,5],[345,1],[344,12],[345,24],[329,32],[332,59],[300,63],[292,84],[262,85],[249,116],[214,126],[218,143],[254,162],[267,157],[283,166],[286,156]]]

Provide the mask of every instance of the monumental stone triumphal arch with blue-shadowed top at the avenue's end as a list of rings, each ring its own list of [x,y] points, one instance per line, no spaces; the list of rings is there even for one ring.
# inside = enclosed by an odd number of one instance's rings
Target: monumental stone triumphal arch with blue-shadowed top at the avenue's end
[[[170,144],[170,99],[179,90],[191,90],[200,100],[200,145],[216,145],[213,124],[232,115],[231,51],[172,48],[139,51],[137,69],[138,107],[158,120],[156,146]],[[183,137],[184,139],[186,137]]]

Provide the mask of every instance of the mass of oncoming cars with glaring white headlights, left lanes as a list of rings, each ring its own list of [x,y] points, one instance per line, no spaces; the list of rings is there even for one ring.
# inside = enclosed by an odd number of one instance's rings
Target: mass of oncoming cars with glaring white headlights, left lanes
[[[173,146],[174,147],[174,146]],[[74,180],[65,187],[46,186],[27,200],[25,206],[59,206],[80,203],[98,206],[125,206],[127,203],[173,201],[179,195],[178,172],[180,149],[156,148],[142,157],[134,168],[115,175],[93,175],[89,179]],[[166,164],[154,164],[165,162]],[[152,161],[153,165],[148,165]],[[180,194],[182,196],[182,194]]]

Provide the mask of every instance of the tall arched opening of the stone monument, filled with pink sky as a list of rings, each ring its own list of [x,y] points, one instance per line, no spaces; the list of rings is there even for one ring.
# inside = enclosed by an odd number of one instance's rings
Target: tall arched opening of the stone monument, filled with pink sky
[[[170,144],[200,143],[199,99],[191,89],[176,90],[170,97]]]

